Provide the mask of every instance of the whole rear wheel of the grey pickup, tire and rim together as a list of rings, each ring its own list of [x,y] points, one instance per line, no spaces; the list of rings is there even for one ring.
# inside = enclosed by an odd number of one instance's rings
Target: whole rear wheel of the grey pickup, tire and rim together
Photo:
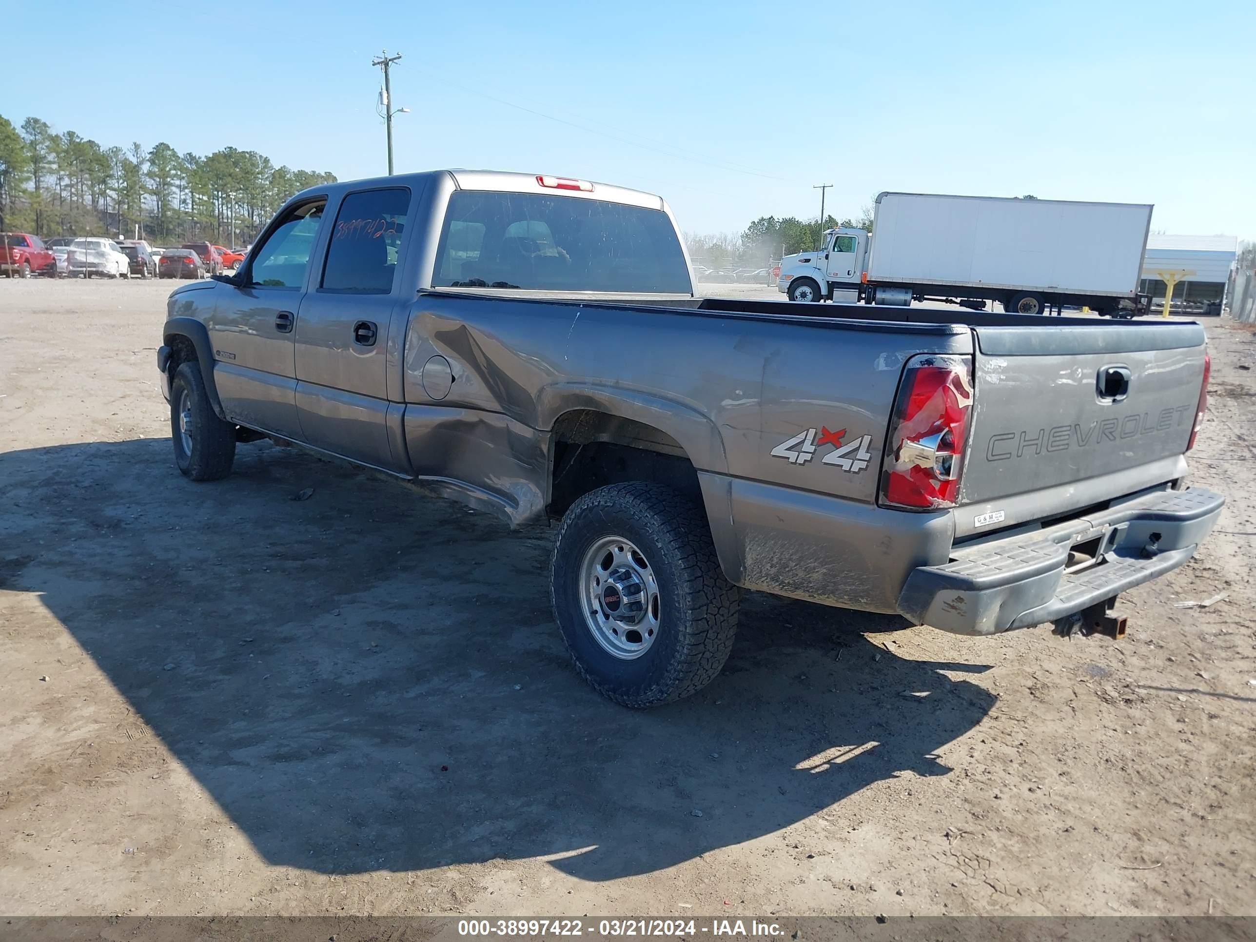
[[[703,510],[644,481],[571,505],[550,559],[550,600],[575,669],[627,707],[697,693],[737,632],[739,590],[720,569]]]

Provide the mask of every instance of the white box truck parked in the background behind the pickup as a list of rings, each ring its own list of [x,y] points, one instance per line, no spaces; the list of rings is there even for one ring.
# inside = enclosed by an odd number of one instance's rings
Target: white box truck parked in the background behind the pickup
[[[816,251],[781,259],[776,286],[794,301],[1134,317],[1147,311],[1138,288],[1150,224],[1144,203],[882,193],[872,234],[828,230]]]

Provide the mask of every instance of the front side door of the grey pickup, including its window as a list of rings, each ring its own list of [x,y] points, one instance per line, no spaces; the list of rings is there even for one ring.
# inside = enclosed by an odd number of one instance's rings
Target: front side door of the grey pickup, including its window
[[[208,319],[214,379],[227,416],[300,441],[293,338],[323,197],[290,207],[250,254],[236,284],[219,284]]]

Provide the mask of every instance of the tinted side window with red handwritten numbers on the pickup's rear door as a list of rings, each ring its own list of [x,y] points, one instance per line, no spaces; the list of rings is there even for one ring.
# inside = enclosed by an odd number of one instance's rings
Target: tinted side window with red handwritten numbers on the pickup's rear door
[[[345,196],[332,226],[320,288],[338,294],[392,291],[408,211],[404,187]]]

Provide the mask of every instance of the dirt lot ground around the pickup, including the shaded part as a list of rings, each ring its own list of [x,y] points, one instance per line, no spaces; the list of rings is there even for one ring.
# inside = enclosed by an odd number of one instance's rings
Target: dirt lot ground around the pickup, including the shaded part
[[[1256,334],[1208,327],[1223,533],[1124,642],[750,595],[637,713],[551,529],[269,443],[183,480],[168,290],[0,280],[5,914],[1256,913]]]

